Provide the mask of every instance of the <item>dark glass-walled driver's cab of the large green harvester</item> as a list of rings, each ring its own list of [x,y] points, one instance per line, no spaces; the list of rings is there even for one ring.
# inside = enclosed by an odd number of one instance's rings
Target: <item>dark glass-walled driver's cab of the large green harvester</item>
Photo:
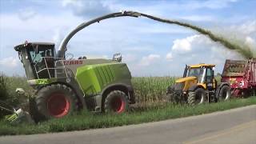
[[[14,50],[18,51],[29,80],[54,78],[54,43],[25,42],[14,46]]]

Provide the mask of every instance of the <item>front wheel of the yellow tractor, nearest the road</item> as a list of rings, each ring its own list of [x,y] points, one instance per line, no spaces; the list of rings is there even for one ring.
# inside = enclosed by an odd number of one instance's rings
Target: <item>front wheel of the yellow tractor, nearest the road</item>
[[[191,105],[199,105],[206,101],[206,92],[202,88],[198,88],[189,92],[187,102]]]

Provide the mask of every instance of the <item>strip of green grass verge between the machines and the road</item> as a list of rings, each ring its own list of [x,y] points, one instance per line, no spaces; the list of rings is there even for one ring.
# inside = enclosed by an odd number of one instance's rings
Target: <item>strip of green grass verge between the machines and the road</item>
[[[113,126],[124,126],[143,122],[156,122],[170,118],[182,118],[191,115],[207,114],[214,111],[229,110],[241,106],[256,104],[256,97],[232,99],[228,102],[218,102],[201,106],[180,106],[166,104],[151,106],[146,110],[135,110],[126,114],[75,114],[62,119],[52,119],[37,125],[11,125],[0,122],[0,135],[10,134],[41,134],[70,130],[88,130]]]

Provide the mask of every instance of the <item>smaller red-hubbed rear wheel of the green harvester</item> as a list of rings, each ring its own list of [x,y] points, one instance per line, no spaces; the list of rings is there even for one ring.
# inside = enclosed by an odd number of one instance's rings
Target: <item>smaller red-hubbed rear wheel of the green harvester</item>
[[[128,99],[124,92],[120,90],[113,90],[107,94],[104,101],[105,113],[121,114],[128,110]]]

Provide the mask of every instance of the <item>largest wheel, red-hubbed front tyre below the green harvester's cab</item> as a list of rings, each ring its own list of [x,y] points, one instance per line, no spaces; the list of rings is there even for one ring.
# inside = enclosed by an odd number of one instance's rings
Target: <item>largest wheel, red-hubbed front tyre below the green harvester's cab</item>
[[[62,118],[78,110],[78,98],[70,87],[54,84],[38,91],[35,106],[41,118]]]

